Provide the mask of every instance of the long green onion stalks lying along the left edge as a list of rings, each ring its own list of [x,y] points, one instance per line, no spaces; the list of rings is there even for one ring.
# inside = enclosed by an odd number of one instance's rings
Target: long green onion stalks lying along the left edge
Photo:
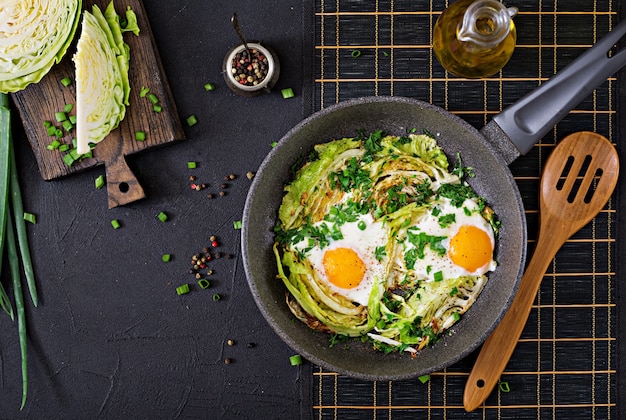
[[[22,358],[22,404],[20,410],[26,404],[28,391],[28,358],[27,358],[27,335],[26,335],[26,309],[24,305],[24,293],[22,291],[21,267],[24,272],[28,291],[33,305],[38,304],[37,287],[28,246],[26,222],[24,220],[24,208],[13,139],[11,136],[11,110],[9,97],[0,94],[0,256],[4,255],[6,244],[7,261],[13,285],[13,299],[17,312],[17,329],[19,334],[20,353]],[[0,267],[2,258],[0,258]],[[15,319],[13,305],[0,282],[0,307]]]

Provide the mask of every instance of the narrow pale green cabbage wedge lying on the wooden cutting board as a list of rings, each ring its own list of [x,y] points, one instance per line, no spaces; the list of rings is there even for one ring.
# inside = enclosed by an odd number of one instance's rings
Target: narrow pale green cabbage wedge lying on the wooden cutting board
[[[126,11],[122,28],[113,2],[104,14],[97,5],[83,13],[82,31],[73,57],[76,66],[76,148],[87,153],[90,144],[102,141],[126,115],[129,105],[130,49],[122,32],[138,34],[136,17]]]

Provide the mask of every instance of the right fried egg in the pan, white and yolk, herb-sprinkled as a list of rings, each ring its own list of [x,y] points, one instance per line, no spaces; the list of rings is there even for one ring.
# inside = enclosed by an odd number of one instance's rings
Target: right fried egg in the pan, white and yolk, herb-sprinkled
[[[401,246],[406,268],[421,279],[483,275],[497,265],[493,229],[470,199],[461,207],[441,199],[408,229]]]

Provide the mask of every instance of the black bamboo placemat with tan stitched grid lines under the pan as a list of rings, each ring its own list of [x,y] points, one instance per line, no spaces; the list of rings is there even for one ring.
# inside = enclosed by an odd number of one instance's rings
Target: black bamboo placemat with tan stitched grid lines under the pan
[[[514,19],[518,45],[513,58],[493,77],[466,80],[444,71],[431,49],[432,27],[447,1],[315,0],[314,108],[359,96],[408,96],[446,108],[480,128],[619,21],[617,0],[505,3],[520,10]],[[617,77],[609,79],[511,165],[526,208],[529,258],[545,158],[559,139],[579,130],[618,143],[617,86]],[[316,367],[314,417],[619,418],[616,203],[614,197],[554,259],[501,377],[506,386],[481,408],[467,414],[462,404],[474,354],[432,373],[424,383],[367,382]]]

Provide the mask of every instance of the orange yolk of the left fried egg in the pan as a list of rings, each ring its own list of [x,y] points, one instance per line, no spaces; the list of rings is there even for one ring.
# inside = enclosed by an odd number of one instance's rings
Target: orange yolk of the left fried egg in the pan
[[[365,263],[349,248],[329,249],[322,260],[326,278],[337,287],[353,289],[365,274]]]

